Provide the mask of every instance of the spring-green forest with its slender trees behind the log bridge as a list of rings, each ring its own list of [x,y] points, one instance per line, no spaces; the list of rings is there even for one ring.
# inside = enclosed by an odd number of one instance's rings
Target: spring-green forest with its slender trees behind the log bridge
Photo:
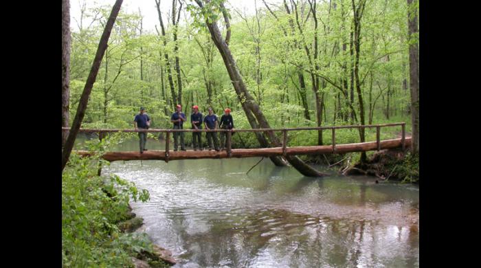
[[[251,128],[245,96],[233,87],[207,27],[216,21],[225,41],[230,36],[228,49],[243,83],[272,128],[403,121],[406,134],[414,136],[410,47],[418,39],[407,21],[414,18],[408,12],[416,13],[417,1],[255,1],[255,14],[225,1],[211,1],[203,8],[203,1],[179,3],[172,1],[176,6],[169,12],[166,3],[157,5],[155,31],[143,27],[142,10],[121,10],[82,127],[131,128],[143,106],[151,128],[170,128],[176,104],[183,104],[187,115],[197,104],[204,114],[208,107],[218,115],[230,107],[236,128]],[[98,4],[80,6],[82,16],[70,32],[70,122],[111,10]],[[172,12],[180,14],[176,21]],[[381,129],[381,139],[400,134],[400,126]],[[322,131],[322,136],[295,131],[288,142],[332,144],[331,137],[331,131]],[[186,144],[191,139],[186,135]],[[375,129],[336,131],[337,144],[375,139]],[[254,133],[236,133],[232,146],[260,144]]]

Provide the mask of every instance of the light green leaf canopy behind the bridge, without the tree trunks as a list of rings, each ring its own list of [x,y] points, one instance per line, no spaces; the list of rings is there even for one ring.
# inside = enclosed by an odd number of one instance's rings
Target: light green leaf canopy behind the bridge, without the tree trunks
[[[358,124],[359,100],[357,92],[351,90],[355,81],[350,79],[350,60],[353,58],[349,52],[352,20],[349,12],[352,12],[352,7],[350,1],[335,2],[331,5],[320,2],[316,8],[318,23],[321,24],[320,20],[324,23],[317,30],[320,38],[317,63],[322,64],[317,73],[327,78],[321,80],[319,89],[324,94],[322,125]],[[299,14],[300,20],[304,21],[300,21],[302,34],[295,27],[294,33],[288,36],[284,36],[282,29],[290,32],[289,18],[293,19],[293,15],[289,16],[282,5],[279,8],[274,5],[269,7],[278,20],[261,1],[257,1],[258,13],[250,16],[227,6],[232,17],[230,49],[247,88],[254,94],[272,127],[316,126],[316,100],[311,89],[309,58],[303,47],[294,49],[289,46],[302,40],[311,45],[315,21],[312,14],[307,17],[309,3],[298,3],[298,8],[304,9],[303,14]],[[106,6],[87,7],[83,10],[84,22],[71,29],[71,120],[103,30],[102,21],[106,20],[109,10]],[[164,23],[166,12],[161,10]],[[95,14],[103,16],[90,27],[85,27]],[[359,71],[364,78],[361,94],[366,107],[363,111],[366,113],[366,124],[409,123],[407,5],[401,0],[369,2],[362,20]],[[174,111],[174,99],[183,104],[183,111],[187,114],[190,114],[193,104],[198,104],[203,113],[212,106],[218,115],[225,107],[230,107],[236,128],[251,127],[232,88],[221,55],[202,23],[194,23],[194,19],[184,18],[182,14],[183,23],[177,27],[171,23],[166,25],[166,36],[162,36],[159,25],[159,34],[146,29],[141,32],[141,21],[142,13],[120,12],[89,99],[83,127],[131,128],[133,116],[139,107],[144,106],[152,118],[151,128],[169,128],[168,119]],[[256,21],[260,24],[257,25]],[[177,41],[172,39],[174,31]],[[164,54],[170,56],[168,65]],[[175,56],[179,58],[181,71],[180,100]],[[305,85],[300,85],[298,65],[305,66],[301,70]],[[172,86],[168,81],[168,68],[172,73]],[[344,93],[347,95],[344,96]],[[349,103],[355,108],[356,118],[352,117]],[[302,139],[311,142],[311,135],[314,137],[317,133],[312,131],[305,135]],[[328,135],[325,136],[325,142],[328,142]],[[254,142],[254,137],[252,140]],[[240,141],[234,139],[234,142]]]

